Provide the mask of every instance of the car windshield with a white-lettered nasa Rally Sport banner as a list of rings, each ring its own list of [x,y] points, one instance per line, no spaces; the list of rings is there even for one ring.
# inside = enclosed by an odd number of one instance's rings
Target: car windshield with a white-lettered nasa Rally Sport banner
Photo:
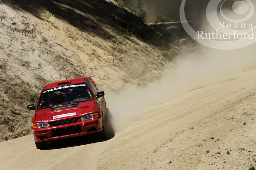
[[[92,99],[92,93],[86,84],[55,87],[42,92],[37,108],[50,108]]]

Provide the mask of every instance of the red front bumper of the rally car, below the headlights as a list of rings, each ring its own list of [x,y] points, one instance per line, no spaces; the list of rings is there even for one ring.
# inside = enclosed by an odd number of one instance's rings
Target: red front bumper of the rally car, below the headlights
[[[93,124],[94,123],[94,124]],[[86,125],[87,124],[87,125]],[[93,125],[88,125],[93,124]],[[66,125],[50,126],[45,128],[34,129],[31,127],[34,140],[43,142],[49,140],[57,140],[61,138],[70,138],[75,136],[83,136],[103,130],[102,117],[87,121],[79,121]]]

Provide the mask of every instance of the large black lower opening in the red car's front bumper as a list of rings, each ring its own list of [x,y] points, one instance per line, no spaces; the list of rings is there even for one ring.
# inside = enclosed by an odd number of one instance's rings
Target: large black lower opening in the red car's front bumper
[[[65,128],[57,128],[52,130],[52,137],[77,134],[81,132],[82,132],[82,129],[81,129],[81,126],[79,125],[65,127]]]

